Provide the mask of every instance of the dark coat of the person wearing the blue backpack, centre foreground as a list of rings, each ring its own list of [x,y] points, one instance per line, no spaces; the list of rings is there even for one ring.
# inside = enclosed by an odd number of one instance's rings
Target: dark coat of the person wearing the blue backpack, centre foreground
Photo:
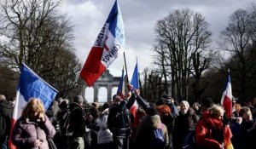
[[[153,138],[154,129],[160,128],[160,116],[145,116],[143,121],[139,124],[136,134],[133,139],[135,149],[148,149],[150,148],[150,142]],[[162,123],[163,124],[163,123]],[[169,143],[168,131],[166,125],[163,124],[164,140],[166,146]]]

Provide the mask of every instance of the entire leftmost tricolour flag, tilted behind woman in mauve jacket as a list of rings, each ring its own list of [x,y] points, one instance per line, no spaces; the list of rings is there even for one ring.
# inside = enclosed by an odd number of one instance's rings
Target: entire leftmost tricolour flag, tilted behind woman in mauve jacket
[[[35,97],[42,100],[44,108],[47,110],[51,102],[55,100],[57,93],[58,91],[50,86],[49,83],[46,83],[35,72],[32,72],[28,66],[22,64],[11,129],[13,129],[16,120],[20,117],[23,108],[30,98]],[[9,138],[11,138],[11,135]],[[11,149],[15,149],[11,141],[9,142]]]

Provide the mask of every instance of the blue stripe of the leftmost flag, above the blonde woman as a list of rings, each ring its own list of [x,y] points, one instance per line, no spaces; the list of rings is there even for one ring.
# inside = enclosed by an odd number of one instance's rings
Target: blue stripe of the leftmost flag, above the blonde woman
[[[25,64],[21,66],[18,89],[26,101],[32,97],[41,99],[45,109],[48,109],[51,102],[55,100],[55,95],[58,93],[56,89],[50,86],[49,83],[46,83],[41,77],[38,77]]]

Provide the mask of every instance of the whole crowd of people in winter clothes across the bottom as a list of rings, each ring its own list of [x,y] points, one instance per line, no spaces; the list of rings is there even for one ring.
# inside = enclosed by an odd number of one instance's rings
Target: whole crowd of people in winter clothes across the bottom
[[[135,102],[137,111],[132,113]],[[9,148],[9,139],[19,149],[49,149],[49,139],[59,149],[248,149],[256,137],[256,100],[233,104],[233,117],[228,118],[210,98],[190,106],[187,100],[163,95],[149,103],[129,85],[123,98],[113,95],[87,111],[81,95],[72,102],[58,98],[46,111],[40,99],[32,98],[10,132],[15,102],[0,95],[5,120],[5,125],[0,121],[0,149]]]

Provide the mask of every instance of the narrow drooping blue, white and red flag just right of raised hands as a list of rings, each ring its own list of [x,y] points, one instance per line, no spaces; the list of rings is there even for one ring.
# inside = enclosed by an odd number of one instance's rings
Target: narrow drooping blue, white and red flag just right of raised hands
[[[132,89],[139,89],[140,85],[139,85],[139,76],[138,76],[138,71],[137,71],[137,62],[136,62],[136,66],[134,68],[132,77],[131,77],[131,85],[133,86]],[[130,112],[132,113],[133,117],[135,119],[137,119],[137,114],[136,111],[138,109],[138,105],[137,105],[137,100],[135,100],[134,104],[131,106]]]

